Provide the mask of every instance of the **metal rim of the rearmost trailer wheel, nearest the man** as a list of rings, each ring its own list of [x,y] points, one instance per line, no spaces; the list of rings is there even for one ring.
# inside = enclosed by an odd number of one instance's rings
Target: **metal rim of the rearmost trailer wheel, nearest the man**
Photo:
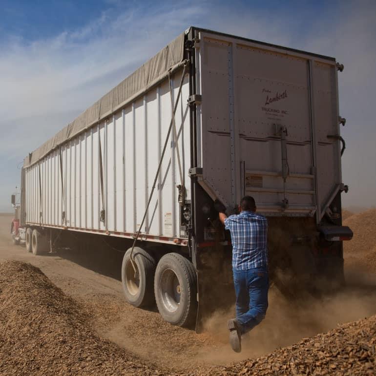
[[[168,312],[175,312],[179,308],[181,287],[178,276],[172,269],[166,269],[161,275],[162,302]]]

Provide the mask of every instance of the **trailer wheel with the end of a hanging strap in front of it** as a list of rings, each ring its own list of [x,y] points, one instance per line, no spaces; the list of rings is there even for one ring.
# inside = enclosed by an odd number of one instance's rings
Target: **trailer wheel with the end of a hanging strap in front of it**
[[[142,248],[134,247],[133,260],[137,268],[137,276],[130,260],[131,248],[125,252],[122,264],[122,283],[126,301],[135,307],[150,307],[155,304],[154,273],[156,262]]]

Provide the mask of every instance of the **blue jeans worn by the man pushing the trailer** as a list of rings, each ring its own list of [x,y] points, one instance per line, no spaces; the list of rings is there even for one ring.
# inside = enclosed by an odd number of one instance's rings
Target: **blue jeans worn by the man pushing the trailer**
[[[236,294],[236,321],[242,334],[259,324],[268,308],[269,276],[265,268],[232,271]]]

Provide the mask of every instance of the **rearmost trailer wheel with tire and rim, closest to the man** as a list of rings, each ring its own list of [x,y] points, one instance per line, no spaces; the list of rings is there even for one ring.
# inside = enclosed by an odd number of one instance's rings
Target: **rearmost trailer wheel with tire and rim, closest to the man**
[[[184,327],[196,322],[197,275],[192,263],[182,255],[167,253],[159,260],[154,295],[165,321]]]

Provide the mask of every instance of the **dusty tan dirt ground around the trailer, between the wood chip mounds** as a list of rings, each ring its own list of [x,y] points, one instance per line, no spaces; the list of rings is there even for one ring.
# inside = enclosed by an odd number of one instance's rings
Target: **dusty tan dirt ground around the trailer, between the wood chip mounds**
[[[242,364],[246,359],[326,332],[339,323],[376,313],[373,274],[355,269],[347,276],[348,287],[324,300],[307,297],[292,306],[271,290],[266,319],[245,337],[242,353],[235,354],[228,345],[226,329],[232,310],[214,314],[206,323],[204,334],[169,325],[158,312],[136,309],[125,302],[120,281],[122,252],[65,250],[34,256],[24,247],[12,245],[10,221],[11,216],[0,215],[0,262],[18,260],[37,266],[53,284],[85,307],[89,325],[99,336],[171,372],[230,362]],[[355,278],[360,275],[363,278]]]

